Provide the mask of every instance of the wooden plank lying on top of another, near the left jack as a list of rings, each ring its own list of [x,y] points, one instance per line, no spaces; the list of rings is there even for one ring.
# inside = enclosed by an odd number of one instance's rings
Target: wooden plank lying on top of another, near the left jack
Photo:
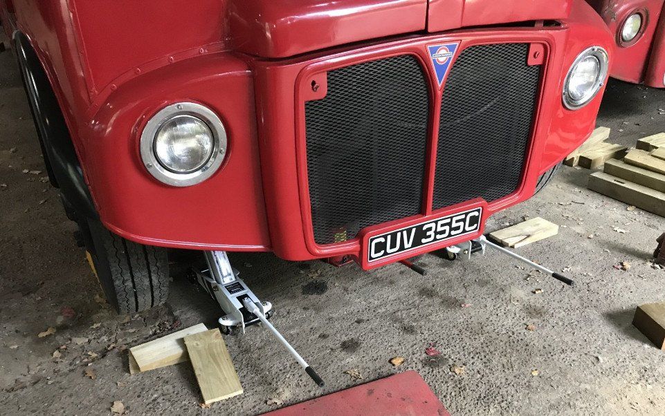
[[[240,380],[218,329],[188,335],[185,346],[199,381],[203,403],[210,404],[242,393]]]

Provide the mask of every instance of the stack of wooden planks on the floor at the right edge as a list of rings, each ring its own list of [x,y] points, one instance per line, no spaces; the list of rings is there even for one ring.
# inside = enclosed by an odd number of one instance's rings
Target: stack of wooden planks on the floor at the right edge
[[[608,160],[593,173],[589,189],[665,216],[665,133],[637,142],[623,160]]]

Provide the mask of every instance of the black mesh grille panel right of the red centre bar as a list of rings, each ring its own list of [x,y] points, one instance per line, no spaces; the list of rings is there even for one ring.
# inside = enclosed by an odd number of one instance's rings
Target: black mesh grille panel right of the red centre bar
[[[520,185],[534,118],[540,66],[528,44],[471,46],[446,81],[439,116],[433,209]]]

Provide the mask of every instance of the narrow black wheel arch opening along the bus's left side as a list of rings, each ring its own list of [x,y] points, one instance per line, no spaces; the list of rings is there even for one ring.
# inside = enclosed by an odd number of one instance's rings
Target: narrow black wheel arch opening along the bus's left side
[[[16,30],[12,43],[48,178],[54,187],[60,188],[65,205],[72,207],[77,214],[99,218],[51,80],[23,32]]]

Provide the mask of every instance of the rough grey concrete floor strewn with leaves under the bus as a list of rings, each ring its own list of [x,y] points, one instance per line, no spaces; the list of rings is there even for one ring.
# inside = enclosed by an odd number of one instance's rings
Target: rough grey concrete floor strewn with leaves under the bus
[[[665,91],[610,82],[604,104],[599,124],[614,142],[665,130]],[[665,220],[587,191],[585,169],[565,167],[490,224],[542,216],[561,225],[518,251],[565,270],[575,288],[495,253],[466,263],[423,256],[426,278],[401,265],[363,272],[234,254],[250,287],[275,304],[273,323],[327,384],[316,388],[265,330],[251,328],[226,337],[245,393],[206,410],[187,363],[131,376],[123,348],[181,325],[212,327],[217,305],[177,266],[162,308],[116,316],[95,301],[98,285],[56,191],[43,172],[22,173],[44,167],[10,53],[0,55],[0,131],[0,414],[104,414],[118,400],[130,414],[246,415],[404,370],[419,372],[455,415],[664,413],[664,353],[630,321],[636,305],[665,299],[665,270],[648,262]],[[628,271],[612,267],[621,261]],[[49,326],[57,332],[37,337]],[[441,354],[428,357],[430,345]],[[398,355],[406,361],[393,368]]]

